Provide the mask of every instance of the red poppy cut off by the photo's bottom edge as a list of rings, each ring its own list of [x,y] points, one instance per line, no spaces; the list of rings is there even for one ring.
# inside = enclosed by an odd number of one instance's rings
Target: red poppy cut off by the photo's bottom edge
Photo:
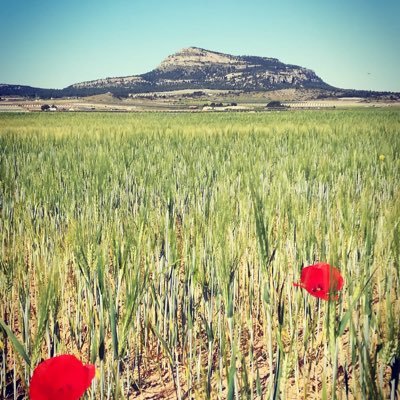
[[[61,355],[40,363],[29,388],[31,400],[78,400],[95,375],[92,364],[83,365],[75,356]]]

